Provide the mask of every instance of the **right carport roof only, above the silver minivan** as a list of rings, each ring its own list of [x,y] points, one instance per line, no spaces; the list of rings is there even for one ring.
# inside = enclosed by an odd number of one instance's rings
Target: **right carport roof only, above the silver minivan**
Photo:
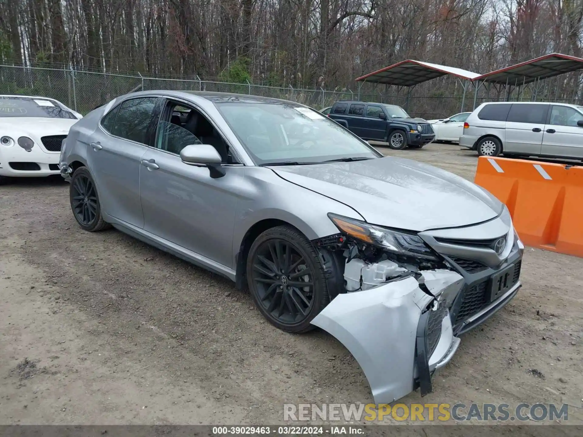
[[[582,58],[552,53],[486,73],[485,75],[476,77],[474,80],[483,80],[484,82],[498,84],[522,85],[581,69],[583,69]]]

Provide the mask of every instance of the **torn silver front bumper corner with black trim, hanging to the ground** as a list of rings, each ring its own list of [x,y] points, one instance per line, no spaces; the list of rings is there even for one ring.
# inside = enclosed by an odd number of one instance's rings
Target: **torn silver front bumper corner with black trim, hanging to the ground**
[[[455,354],[449,307],[463,287],[451,270],[426,270],[358,292],[339,294],[312,320],[354,356],[375,403],[391,403],[417,387]]]

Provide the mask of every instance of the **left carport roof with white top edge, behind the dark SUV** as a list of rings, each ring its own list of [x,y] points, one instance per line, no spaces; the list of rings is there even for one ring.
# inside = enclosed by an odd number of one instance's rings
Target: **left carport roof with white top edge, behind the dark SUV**
[[[406,61],[401,61],[397,64],[368,73],[367,75],[357,77],[356,81],[366,80],[366,82],[384,83],[387,85],[413,86],[445,75],[452,75],[468,80],[473,80],[480,76],[479,73],[462,70],[461,68],[407,59]]]

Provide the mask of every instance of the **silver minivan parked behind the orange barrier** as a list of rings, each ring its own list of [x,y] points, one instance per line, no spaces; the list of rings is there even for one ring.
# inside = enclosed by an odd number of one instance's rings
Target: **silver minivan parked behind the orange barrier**
[[[483,103],[466,119],[459,145],[477,150],[480,156],[583,159],[583,106]]]

